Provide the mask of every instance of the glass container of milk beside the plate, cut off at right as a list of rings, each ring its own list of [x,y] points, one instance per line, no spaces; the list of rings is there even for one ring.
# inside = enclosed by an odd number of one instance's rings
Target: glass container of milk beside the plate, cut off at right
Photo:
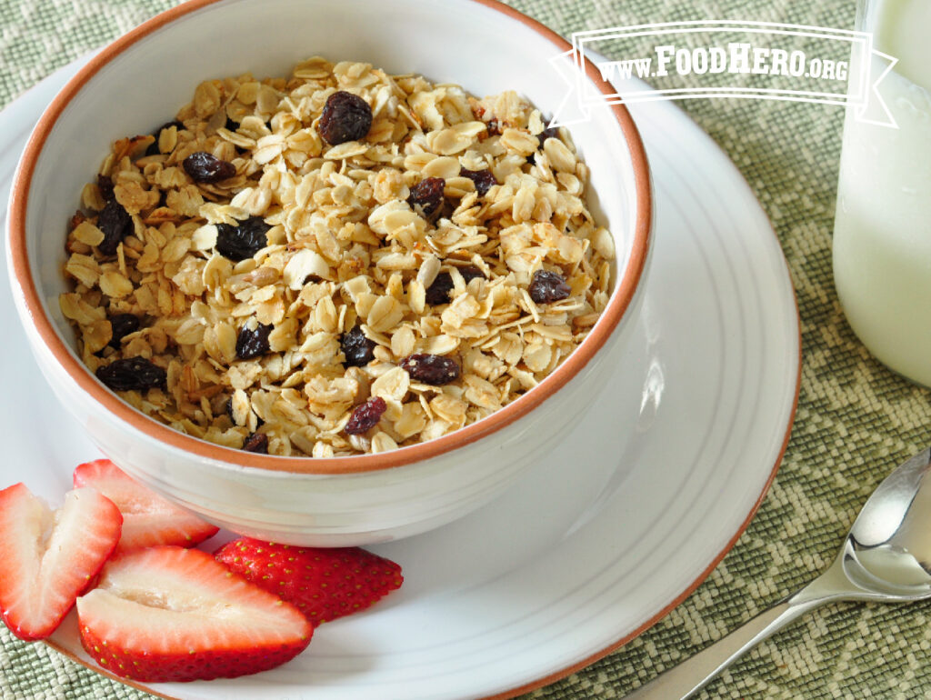
[[[857,11],[857,29],[898,59],[878,88],[898,128],[847,110],[834,283],[870,352],[931,386],[931,0],[859,0]]]

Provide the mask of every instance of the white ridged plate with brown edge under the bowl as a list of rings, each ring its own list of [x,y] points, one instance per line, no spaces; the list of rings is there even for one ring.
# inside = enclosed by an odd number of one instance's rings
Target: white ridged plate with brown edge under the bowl
[[[0,201],[29,129],[78,68],[0,114]],[[632,112],[653,168],[654,259],[634,346],[599,410],[491,505],[374,547],[402,565],[404,586],[322,626],[290,664],[150,691],[192,700],[518,693],[632,639],[734,545],[776,473],[797,399],[791,282],[769,222],[713,141],[668,102]],[[41,378],[7,288],[0,485],[22,480],[57,503],[74,465],[98,454]],[[633,429],[616,420],[631,392],[641,396]],[[52,642],[96,668],[73,616]]]

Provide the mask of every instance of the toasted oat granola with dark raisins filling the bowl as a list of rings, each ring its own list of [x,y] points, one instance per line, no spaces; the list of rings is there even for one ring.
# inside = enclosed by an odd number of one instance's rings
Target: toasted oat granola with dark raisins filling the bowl
[[[105,384],[157,374],[112,388],[184,433],[395,450],[501,409],[585,339],[614,260],[586,182],[516,92],[318,57],[208,80],[84,187],[61,311]]]

